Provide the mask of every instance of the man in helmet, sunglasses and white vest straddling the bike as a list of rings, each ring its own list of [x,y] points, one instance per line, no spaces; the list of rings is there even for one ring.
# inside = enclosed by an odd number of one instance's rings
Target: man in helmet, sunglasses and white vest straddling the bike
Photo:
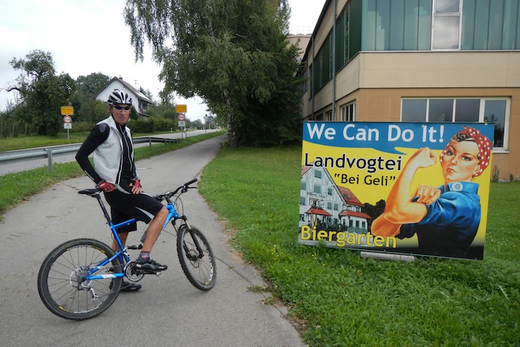
[[[121,90],[114,90],[107,102],[110,117],[92,129],[76,154],[76,160],[85,174],[103,190],[114,224],[131,218],[149,223],[135,269],[157,273],[168,266],[152,260],[150,251],[161,233],[168,210],[155,198],[142,192],[141,180],[135,169],[132,135],[126,126],[132,110],[132,98]],[[88,158],[91,153],[94,153],[95,169]],[[132,223],[118,231],[123,245],[128,232],[135,230],[137,224]],[[119,251],[117,248],[116,242],[112,242],[112,249]],[[121,286],[123,291],[140,288],[141,285],[126,281]]]

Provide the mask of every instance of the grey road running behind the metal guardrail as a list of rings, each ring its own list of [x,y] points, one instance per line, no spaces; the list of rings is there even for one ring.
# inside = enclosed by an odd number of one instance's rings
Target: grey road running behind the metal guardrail
[[[207,129],[207,130],[193,130],[185,133],[184,136],[196,136],[196,135],[202,135],[205,133],[213,133],[217,130],[215,129]],[[165,137],[167,139],[180,139],[182,136],[182,133],[165,133],[160,135],[153,135],[154,137]],[[142,146],[148,146],[148,144],[136,144],[135,147],[142,147]],[[74,157],[76,154],[67,154],[67,155],[55,155],[53,156],[53,161],[55,164],[62,163],[62,162],[71,162],[73,160],[76,160]],[[0,176],[5,174],[12,174],[19,171],[26,171],[31,169],[37,169],[38,167],[46,167],[48,164],[47,159],[35,159],[35,160],[28,160],[26,162],[14,162],[12,164],[0,164]]]

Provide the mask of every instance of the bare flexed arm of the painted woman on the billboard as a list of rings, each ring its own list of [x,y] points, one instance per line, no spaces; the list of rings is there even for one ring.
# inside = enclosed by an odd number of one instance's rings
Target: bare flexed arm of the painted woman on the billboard
[[[415,190],[419,200],[413,202],[409,192],[417,169],[435,164],[436,157],[431,149],[424,147],[415,152],[406,163],[395,185],[390,189],[386,200],[385,211],[372,223],[372,235],[393,236],[399,233],[401,224],[417,223],[426,215],[426,203],[438,198],[440,192],[431,187],[421,186]]]

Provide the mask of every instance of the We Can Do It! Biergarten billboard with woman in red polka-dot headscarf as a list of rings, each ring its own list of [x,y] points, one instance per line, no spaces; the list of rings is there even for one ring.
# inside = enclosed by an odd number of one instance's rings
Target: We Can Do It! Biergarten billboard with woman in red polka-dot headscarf
[[[304,123],[300,244],[482,260],[493,124]]]

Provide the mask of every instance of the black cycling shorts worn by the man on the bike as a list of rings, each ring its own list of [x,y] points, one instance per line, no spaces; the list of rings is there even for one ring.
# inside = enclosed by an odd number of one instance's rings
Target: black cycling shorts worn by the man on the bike
[[[146,193],[128,194],[114,190],[114,192],[105,193],[105,200],[110,205],[110,214],[114,225],[132,218],[148,224],[164,208],[162,203]],[[137,223],[132,223],[120,228],[117,232],[135,230],[137,230]]]

